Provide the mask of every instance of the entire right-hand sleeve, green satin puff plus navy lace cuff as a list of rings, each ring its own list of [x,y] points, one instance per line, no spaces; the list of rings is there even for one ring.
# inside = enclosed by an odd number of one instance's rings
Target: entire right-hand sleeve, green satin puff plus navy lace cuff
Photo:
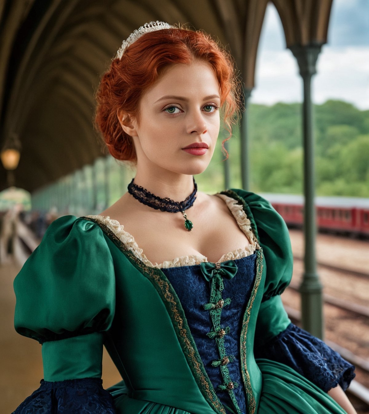
[[[262,197],[242,191],[252,227],[264,252],[266,268],[262,303],[257,315],[254,356],[293,368],[321,390],[338,384],[346,390],[355,367],[323,341],[293,325],[281,293],[292,277],[293,255],[287,226]]]

